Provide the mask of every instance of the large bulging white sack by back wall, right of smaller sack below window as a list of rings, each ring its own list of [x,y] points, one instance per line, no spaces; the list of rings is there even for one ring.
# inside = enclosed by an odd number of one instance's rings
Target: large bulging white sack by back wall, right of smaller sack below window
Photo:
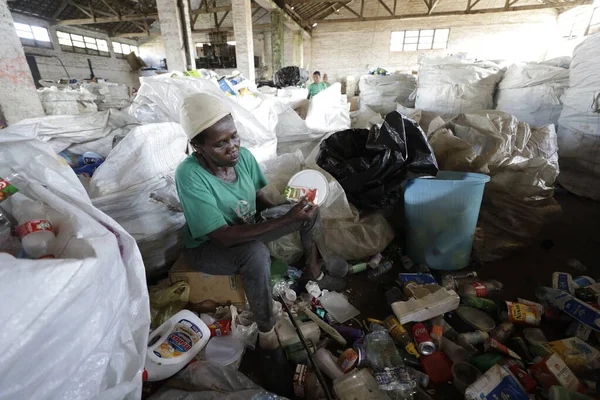
[[[502,70],[493,63],[457,58],[421,60],[415,108],[453,118],[494,107]]]

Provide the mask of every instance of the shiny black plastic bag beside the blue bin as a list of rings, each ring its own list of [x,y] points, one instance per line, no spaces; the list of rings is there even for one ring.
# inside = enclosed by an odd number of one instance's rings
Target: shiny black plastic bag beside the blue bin
[[[361,211],[401,202],[404,180],[438,171],[423,130],[397,111],[386,116],[381,128],[334,133],[321,143],[317,164],[338,180]]]

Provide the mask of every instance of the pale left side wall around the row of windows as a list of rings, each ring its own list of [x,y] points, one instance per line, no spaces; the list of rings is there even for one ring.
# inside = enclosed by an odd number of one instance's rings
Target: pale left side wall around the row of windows
[[[36,56],[35,60],[38,65],[38,69],[40,70],[42,79],[58,80],[60,78],[66,78],[67,74],[65,72],[65,68],[72,78],[89,78],[90,70],[87,60],[90,59],[92,61],[94,74],[97,77],[106,78],[115,83],[139,87],[139,73],[132,71],[129,67],[129,64],[124,59],[116,58],[115,54],[113,53],[112,42],[108,35],[98,31],[86,30],[73,26],[61,26],[58,29],[63,32],[75,33],[78,35],[85,35],[106,40],[108,42],[108,48],[111,56],[100,57],[87,54],[70,53],[61,50],[60,45],[58,44],[58,38],[56,36],[57,28],[49,26],[48,21],[16,13],[13,13],[13,19],[15,22],[48,28],[50,39],[52,40],[52,44],[54,46],[53,50],[41,49],[37,47],[24,47],[26,54],[33,54]],[[125,38],[119,39],[119,41],[134,45],[137,44],[136,41]],[[63,68],[59,59],[64,64],[65,68]]]

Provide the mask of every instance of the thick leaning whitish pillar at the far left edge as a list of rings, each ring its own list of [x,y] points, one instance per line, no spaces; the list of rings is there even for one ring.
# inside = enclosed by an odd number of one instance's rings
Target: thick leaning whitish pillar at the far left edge
[[[7,125],[43,116],[44,109],[6,0],[0,0],[0,37],[0,115],[4,115]]]

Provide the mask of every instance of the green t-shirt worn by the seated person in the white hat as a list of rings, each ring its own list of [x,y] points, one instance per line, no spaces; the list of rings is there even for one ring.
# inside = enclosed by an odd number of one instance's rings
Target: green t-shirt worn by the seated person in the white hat
[[[175,184],[183,206],[186,226],[183,247],[194,248],[207,242],[208,234],[224,225],[254,222],[256,192],[267,185],[256,159],[240,148],[235,182],[225,182],[206,171],[190,154],[175,171]]]

